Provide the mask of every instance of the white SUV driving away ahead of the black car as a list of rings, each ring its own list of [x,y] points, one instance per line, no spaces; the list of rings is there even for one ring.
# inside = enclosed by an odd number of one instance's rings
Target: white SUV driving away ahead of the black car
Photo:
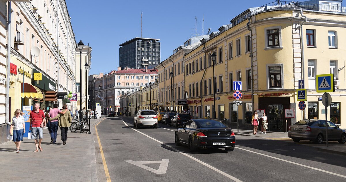
[[[157,116],[154,110],[139,110],[133,118],[133,126],[152,126],[157,128]]]

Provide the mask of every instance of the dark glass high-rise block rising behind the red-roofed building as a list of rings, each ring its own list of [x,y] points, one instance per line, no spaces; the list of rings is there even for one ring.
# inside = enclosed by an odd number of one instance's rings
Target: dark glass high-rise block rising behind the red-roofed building
[[[135,37],[120,44],[119,65],[143,69],[160,63],[160,39]]]

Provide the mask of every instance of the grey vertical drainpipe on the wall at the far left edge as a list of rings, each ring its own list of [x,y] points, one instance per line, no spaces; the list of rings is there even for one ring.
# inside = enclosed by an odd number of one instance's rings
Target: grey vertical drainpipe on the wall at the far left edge
[[[10,119],[10,55],[11,55],[11,1],[7,2],[7,56],[6,56],[6,124],[11,125]],[[24,81],[24,80],[23,80]],[[23,82],[24,84],[24,82]],[[24,95],[23,95],[24,96]]]

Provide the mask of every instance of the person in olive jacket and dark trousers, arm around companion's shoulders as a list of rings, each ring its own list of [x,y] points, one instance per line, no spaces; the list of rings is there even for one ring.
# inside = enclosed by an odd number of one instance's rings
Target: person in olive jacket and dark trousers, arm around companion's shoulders
[[[67,110],[67,105],[64,105],[62,111],[66,111],[66,110]],[[61,131],[61,141],[63,141],[63,145],[65,145],[67,140],[67,130],[71,126],[71,122],[72,122],[71,113],[69,112],[66,112],[65,114],[58,113],[57,116],[49,120],[56,120],[56,119],[58,120],[58,125]]]

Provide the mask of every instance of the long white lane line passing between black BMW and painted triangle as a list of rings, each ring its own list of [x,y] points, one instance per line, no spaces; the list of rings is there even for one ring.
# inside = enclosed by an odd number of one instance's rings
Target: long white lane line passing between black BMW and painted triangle
[[[120,119],[122,120],[122,118],[120,118]],[[129,127],[129,125],[128,125],[124,120],[122,120],[122,122],[124,122],[124,124],[125,124],[127,127]],[[129,128],[131,128],[131,127],[129,127]],[[182,154],[182,155],[184,155],[184,156],[186,156],[186,157],[191,158],[192,160],[194,160],[194,161],[196,161],[196,162],[198,162],[198,163],[200,163],[200,164],[202,164],[202,165],[204,165],[204,166],[206,166],[206,167],[209,167],[210,169],[214,170],[215,172],[218,172],[218,173],[220,173],[220,174],[222,174],[222,175],[228,177],[229,179],[231,179],[231,180],[233,180],[233,181],[242,182],[242,181],[238,180],[237,178],[235,178],[235,177],[233,177],[233,176],[231,176],[231,175],[229,175],[229,174],[227,174],[227,173],[225,173],[225,172],[223,172],[223,171],[221,171],[221,170],[218,170],[217,168],[215,168],[215,167],[213,167],[213,166],[211,166],[211,165],[209,165],[209,164],[207,164],[207,163],[204,163],[204,162],[200,161],[200,160],[197,159],[197,158],[194,158],[194,157],[190,156],[189,154],[185,154],[185,153],[183,153],[182,151],[180,151],[180,150],[178,150],[178,149],[176,149],[176,148],[174,148],[174,147],[172,147],[172,146],[170,146],[170,145],[164,144],[163,142],[158,141],[158,140],[156,140],[155,138],[150,137],[150,136],[148,136],[148,135],[146,135],[146,134],[144,134],[144,133],[142,133],[142,132],[140,132],[140,131],[138,131],[138,130],[136,130],[136,129],[134,129],[134,128],[131,128],[131,129],[137,131],[138,133],[140,133],[140,134],[142,134],[142,135],[144,135],[144,136],[146,136],[146,137],[148,137],[148,138],[150,138],[150,139],[152,139],[152,140],[154,140],[154,141],[157,141],[158,143],[160,143],[160,144],[162,144],[162,145],[165,145],[165,146],[167,146],[167,147],[169,147],[169,148],[175,150],[176,152],[178,152],[178,153],[180,153],[180,154]]]

